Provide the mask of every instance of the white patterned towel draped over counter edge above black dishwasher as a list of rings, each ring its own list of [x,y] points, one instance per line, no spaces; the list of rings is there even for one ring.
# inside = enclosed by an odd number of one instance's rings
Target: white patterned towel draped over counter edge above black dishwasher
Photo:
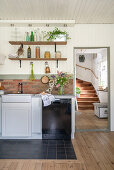
[[[41,94],[41,97],[42,97],[44,107],[51,105],[51,102],[55,101],[55,97],[51,94],[44,94],[44,95]]]

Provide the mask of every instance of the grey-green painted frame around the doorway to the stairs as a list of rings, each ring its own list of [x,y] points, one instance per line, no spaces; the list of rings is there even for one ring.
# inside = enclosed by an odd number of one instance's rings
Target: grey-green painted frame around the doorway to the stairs
[[[73,70],[74,70],[74,80],[73,80],[73,89],[74,94],[76,96],[76,56],[75,50],[76,49],[99,49],[99,48],[106,48],[107,49],[107,71],[108,71],[108,127],[105,129],[76,129],[76,132],[83,132],[83,131],[111,131],[111,116],[110,116],[110,47],[74,47],[73,48]]]

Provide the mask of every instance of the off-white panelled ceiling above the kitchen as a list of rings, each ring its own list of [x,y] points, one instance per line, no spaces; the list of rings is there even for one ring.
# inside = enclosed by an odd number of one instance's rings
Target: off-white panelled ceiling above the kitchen
[[[114,0],[0,0],[0,19],[114,24]]]

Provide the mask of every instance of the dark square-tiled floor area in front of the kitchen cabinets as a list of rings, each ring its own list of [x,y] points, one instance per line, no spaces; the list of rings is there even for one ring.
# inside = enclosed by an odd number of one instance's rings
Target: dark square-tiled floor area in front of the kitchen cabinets
[[[76,159],[71,140],[0,140],[0,159]]]

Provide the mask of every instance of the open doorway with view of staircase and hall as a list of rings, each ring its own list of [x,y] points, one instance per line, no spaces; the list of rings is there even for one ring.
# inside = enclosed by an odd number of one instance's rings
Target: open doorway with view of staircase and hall
[[[110,130],[110,48],[74,48],[76,131]]]

